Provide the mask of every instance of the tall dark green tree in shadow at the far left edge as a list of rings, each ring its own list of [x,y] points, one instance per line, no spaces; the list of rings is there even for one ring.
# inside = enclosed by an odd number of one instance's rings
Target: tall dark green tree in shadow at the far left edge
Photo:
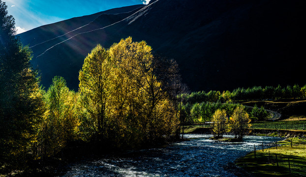
[[[44,103],[31,50],[15,37],[14,26],[0,0],[0,167],[16,168],[32,158]]]

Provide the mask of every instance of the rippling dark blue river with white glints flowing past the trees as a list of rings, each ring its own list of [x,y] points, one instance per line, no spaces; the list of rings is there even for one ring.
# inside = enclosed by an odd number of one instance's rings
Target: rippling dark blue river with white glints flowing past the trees
[[[228,163],[255,147],[281,140],[245,136],[242,143],[209,140],[212,135],[186,135],[191,139],[165,148],[134,150],[98,160],[70,164],[59,177],[236,177],[225,170]]]

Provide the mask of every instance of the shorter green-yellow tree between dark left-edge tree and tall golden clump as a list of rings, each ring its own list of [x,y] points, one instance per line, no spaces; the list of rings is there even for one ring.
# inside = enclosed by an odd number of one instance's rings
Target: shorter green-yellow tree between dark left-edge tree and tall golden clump
[[[70,141],[77,139],[77,97],[66,86],[64,78],[56,76],[44,95],[47,111],[38,132],[39,156],[51,156]]]

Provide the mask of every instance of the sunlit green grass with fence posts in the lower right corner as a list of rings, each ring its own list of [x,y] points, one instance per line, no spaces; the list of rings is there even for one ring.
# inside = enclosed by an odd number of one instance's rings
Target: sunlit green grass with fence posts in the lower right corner
[[[306,177],[306,140],[292,138],[292,147],[290,140],[278,142],[277,149],[258,147],[256,158],[253,151],[236,164],[255,177]]]

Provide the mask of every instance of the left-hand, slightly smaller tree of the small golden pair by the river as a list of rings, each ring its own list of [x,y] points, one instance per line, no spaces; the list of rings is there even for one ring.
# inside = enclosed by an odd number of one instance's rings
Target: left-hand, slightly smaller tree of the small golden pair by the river
[[[222,138],[226,132],[227,115],[225,110],[216,110],[212,118],[214,138]]]

